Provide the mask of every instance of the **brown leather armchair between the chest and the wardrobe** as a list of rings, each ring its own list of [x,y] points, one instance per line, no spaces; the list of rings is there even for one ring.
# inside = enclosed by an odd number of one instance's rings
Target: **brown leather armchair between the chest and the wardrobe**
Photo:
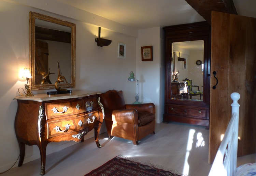
[[[100,94],[109,138],[131,140],[133,145],[148,134],[155,134],[154,103],[126,105],[123,91],[110,90]]]

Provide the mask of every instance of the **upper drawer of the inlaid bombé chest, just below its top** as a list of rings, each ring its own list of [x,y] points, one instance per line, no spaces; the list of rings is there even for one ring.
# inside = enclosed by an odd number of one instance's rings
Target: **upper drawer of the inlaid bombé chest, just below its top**
[[[97,109],[96,96],[84,99],[77,99],[73,101],[45,103],[45,113],[47,119],[73,114],[80,114],[87,111],[91,111],[93,109]]]

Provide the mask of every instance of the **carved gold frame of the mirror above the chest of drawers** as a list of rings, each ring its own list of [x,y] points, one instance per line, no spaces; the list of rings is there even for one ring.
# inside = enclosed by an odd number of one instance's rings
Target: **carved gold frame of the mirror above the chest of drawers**
[[[70,80],[68,80],[68,81],[70,81],[69,85],[71,87],[75,87],[75,24],[71,23],[71,22],[63,21],[63,20],[60,20],[60,19],[57,19],[57,18],[42,15],[42,14],[39,14],[39,13],[30,12],[29,29],[30,29],[30,68],[31,68],[31,75],[32,75],[31,90],[54,89],[54,83],[57,80],[57,76],[58,76],[58,73],[55,73],[55,74],[51,75],[52,81],[49,81],[49,82],[52,82],[51,84],[48,83],[48,82],[46,82],[46,83],[38,83],[38,81],[35,82],[36,72],[37,72],[37,76],[38,76],[38,68],[37,68],[38,65],[36,65],[36,61],[35,61],[35,57],[36,57],[36,53],[35,53],[36,52],[36,49],[35,49],[35,39],[36,39],[36,37],[35,37],[36,36],[35,35],[35,31],[36,31],[35,30],[35,23],[36,23],[36,20],[47,21],[50,24],[50,26],[57,24],[57,26],[61,25],[62,27],[64,26],[66,28],[67,27],[70,28],[70,32],[69,32],[70,34],[69,35],[71,36],[71,39],[69,38],[69,42],[67,42],[67,43],[71,43],[70,61],[68,59],[68,61],[61,62],[61,59],[62,59],[61,57],[55,57],[56,65],[55,64],[49,65],[49,66],[47,66],[47,70],[43,70],[43,71],[45,73],[48,73],[49,72],[48,68],[51,68],[51,72],[52,72],[52,68],[55,68],[55,67],[57,68],[57,61],[60,63],[60,67],[62,66],[64,68],[63,69],[64,71],[65,71],[65,66],[68,65],[68,67],[69,67],[69,64],[70,64],[70,75],[67,74],[67,75],[64,75],[64,76],[66,78],[69,77],[70,78]],[[59,27],[61,27],[61,26],[59,26]],[[51,30],[51,27],[49,27],[49,30]],[[49,54],[49,53],[47,53],[47,54]],[[48,63],[47,63],[47,65],[48,65]],[[69,72],[69,69],[68,69],[68,72]],[[60,86],[61,87],[69,87],[65,83],[60,84]]]

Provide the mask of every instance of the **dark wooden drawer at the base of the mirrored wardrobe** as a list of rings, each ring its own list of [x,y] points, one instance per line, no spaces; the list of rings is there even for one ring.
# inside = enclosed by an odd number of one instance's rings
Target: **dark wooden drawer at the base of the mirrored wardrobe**
[[[189,108],[178,108],[168,106],[167,112],[175,115],[195,116],[200,118],[206,118],[205,109],[189,109]]]

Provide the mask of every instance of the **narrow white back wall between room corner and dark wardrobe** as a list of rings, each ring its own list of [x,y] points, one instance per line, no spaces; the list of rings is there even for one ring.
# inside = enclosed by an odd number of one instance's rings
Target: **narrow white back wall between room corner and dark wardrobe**
[[[163,77],[160,77],[160,74],[162,74],[161,71],[164,70],[164,63],[161,60],[163,58],[160,45],[161,30],[159,27],[139,30],[139,37],[137,38],[136,44],[137,59],[135,76],[139,80],[139,98],[142,102],[155,103],[156,123],[162,122],[163,106],[160,108],[160,104],[164,101],[160,99],[163,97],[161,93],[164,91],[164,85],[162,84],[164,82],[164,74]],[[141,60],[141,47],[143,46],[153,47],[153,61]]]

